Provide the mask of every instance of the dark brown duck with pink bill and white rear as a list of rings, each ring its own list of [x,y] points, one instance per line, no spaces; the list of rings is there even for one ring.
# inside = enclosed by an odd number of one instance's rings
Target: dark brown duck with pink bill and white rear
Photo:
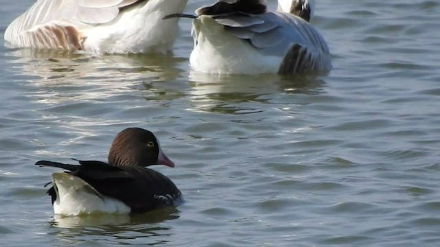
[[[122,130],[111,145],[109,163],[78,162],[80,165],[35,163],[69,171],[52,174],[53,186],[47,191],[57,215],[144,213],[183,202],[181,192],[169,178],[145,167],[174,167],[148,130]]]

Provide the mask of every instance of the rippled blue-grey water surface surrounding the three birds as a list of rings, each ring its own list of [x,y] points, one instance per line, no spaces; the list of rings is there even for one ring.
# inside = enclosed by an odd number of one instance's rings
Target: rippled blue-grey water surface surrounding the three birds
[[[32,2],[1,4],[2,38]],[[168,56],[0,47],[2,244],[439,246],[439,13],[438,1],[317,1],[333,69],[296,78],[191,71],[188,20]],[[157,134],[176,167],[155,169],[186,203],[54,217],[54,169],[34,162],[105,161],[129,126]]]

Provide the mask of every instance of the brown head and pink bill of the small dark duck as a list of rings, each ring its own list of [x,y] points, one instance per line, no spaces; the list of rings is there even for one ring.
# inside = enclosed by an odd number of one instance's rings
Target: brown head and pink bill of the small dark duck
[[[155,135],[142,128],[126,128],[113,140],[109,152],[110,165],[167,165],[173,161],[162,152]]]

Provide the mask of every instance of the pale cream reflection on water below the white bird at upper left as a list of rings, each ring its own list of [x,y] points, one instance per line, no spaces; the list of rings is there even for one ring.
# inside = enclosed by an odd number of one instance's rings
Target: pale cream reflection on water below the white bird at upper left
[[[32,99],[43,104],[102,100],[131,95],[137,85],[177,80],[186,59],[167,55],[104,55],[41,49],[13,49],[5,62],[25,75]],[[29,78],[30,76],[30,78]],[[141,90],[144,90],[142,87]],[[153,90],[154,93],[154,90]]]

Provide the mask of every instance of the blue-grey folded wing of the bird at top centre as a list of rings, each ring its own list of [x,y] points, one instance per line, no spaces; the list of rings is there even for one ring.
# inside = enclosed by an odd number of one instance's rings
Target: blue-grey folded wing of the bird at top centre
[[[329,48],[324,38],[311,24],[298,16],[281,12],[236,12],[214,16],[214,19],[224,26],[226,32],[250,43],[262,54],[289,57],[291,61],[285,62],[282,70],[299,72],[331,67]],[[295,64],[292,56],[298,55],[298,49],[301,55],[298,59],[301,61]]]

